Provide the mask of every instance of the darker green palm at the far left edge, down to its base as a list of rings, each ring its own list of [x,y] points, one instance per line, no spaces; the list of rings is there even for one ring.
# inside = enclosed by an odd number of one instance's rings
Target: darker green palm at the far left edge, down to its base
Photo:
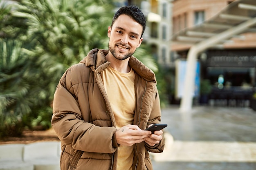
[[[20,135],[24,113],[31,111],[25,76],[29,62],[21,45],[15,40],[0,40],[0,136]]]

